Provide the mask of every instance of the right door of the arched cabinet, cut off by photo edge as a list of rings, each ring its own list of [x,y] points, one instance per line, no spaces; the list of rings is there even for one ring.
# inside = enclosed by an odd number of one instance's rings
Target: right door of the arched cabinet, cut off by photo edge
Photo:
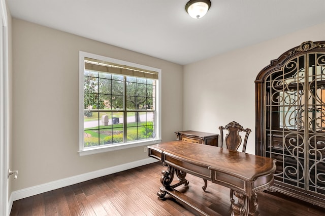
[[[308,55],[308,190],[325,193],[325,54]]]

